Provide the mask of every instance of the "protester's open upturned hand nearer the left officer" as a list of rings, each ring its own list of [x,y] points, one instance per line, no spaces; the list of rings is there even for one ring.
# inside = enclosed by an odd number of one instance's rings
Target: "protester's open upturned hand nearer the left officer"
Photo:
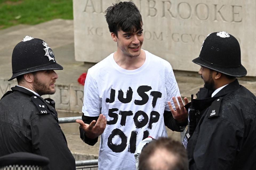
[[[107,125],[106,116],[103,116],[103,114],[99,115],[97,122],[95,120],[93,120],[90,123],[90,125],[85,124],[82,120],[79,120],[79,119],[75,120],[75,122],[80,124],[81,128],[85,131],[85,135],[91,139],[95,139],[99,135],[101,135]],[[96,124],[95,124],[95,122],[96,122]]]

